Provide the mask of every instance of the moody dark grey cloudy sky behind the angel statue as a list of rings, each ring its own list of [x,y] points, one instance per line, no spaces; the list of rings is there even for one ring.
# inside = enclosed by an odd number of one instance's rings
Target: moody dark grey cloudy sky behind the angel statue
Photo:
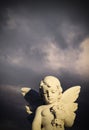
[[[20,89],[38,91],[46,75],[81,86],[71,130],[88,129],[88,10],[80,0],[0,2],[0,130],[31,129]]]

